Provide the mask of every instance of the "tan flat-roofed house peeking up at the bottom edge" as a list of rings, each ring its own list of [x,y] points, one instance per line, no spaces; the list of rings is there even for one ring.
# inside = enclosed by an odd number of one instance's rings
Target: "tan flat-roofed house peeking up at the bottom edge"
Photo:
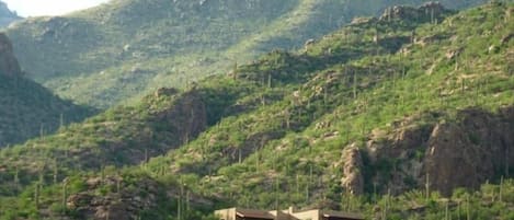
[[[320,209],[296,211],[293,208],[278,211],[230,208],[217,210],[215,215],[220,220],[364,220],[364,217],[355,213]]]

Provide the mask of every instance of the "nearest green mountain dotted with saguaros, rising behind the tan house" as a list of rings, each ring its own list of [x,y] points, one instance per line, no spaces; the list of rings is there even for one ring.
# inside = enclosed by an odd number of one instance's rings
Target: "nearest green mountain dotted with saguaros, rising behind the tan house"
[[[0,150],[3,219],[510,219],[514,4],[391,7]],[[0,218],[0,219],[1,219]]]

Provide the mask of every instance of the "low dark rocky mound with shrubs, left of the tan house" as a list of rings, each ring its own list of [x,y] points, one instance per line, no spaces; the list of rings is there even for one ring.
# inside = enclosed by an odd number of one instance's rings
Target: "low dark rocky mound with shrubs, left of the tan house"
[[[134,185],[134,180],[137,180],[137,185]],[[157,211],[163,200],[176,201],[181,194],[187,195],[187,200],[183,201],[187,202],[187,206],[214,205],[210,198],[197,195],[185,186],[163,186],[152,177],[140,174],[125,176],[125,180],[119,175],[83,177],[81,182],[84,189],[69,195],[66,199],[66,208],[75,213],[73,219],[151,219],[153,216],[148,213]],[[44,219],[61,218],[48,216]]]

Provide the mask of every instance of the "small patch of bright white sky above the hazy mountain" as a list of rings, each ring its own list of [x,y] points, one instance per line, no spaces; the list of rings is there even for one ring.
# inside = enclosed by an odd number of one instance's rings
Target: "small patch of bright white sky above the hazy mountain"
[[[61,15],[110,0],[2,0],[21,16]]]

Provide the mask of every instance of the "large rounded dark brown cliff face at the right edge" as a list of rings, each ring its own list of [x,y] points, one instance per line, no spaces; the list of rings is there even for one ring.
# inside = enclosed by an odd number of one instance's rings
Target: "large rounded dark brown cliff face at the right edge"
[[[456,187],[477,188],[514,165],[514,109],[496,115],[468,109],[458,123],[439,123],[430,137],[424,172],[444,195]]]

